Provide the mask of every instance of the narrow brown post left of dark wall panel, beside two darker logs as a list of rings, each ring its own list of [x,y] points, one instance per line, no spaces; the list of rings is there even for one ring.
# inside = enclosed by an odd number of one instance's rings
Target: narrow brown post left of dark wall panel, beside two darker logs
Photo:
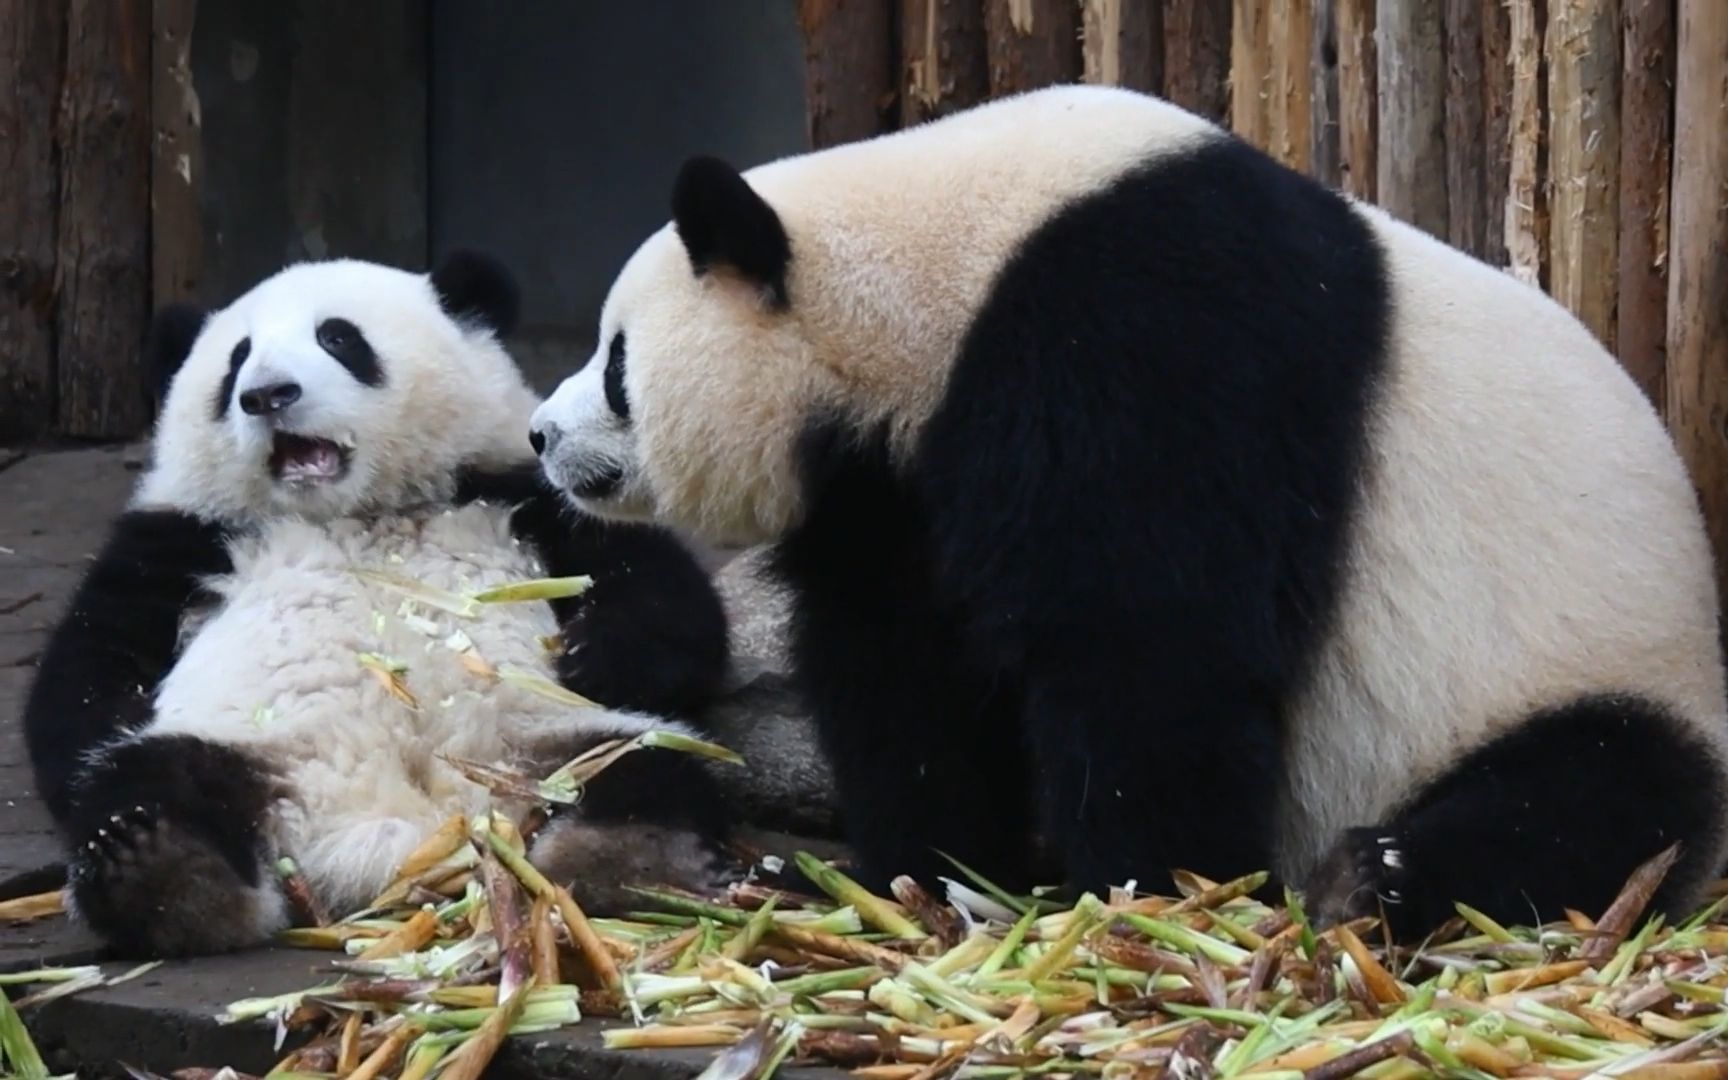
[[[150,304],[199,294],[204,150],[192,85],[197,0],[156,0],[150,41]]]

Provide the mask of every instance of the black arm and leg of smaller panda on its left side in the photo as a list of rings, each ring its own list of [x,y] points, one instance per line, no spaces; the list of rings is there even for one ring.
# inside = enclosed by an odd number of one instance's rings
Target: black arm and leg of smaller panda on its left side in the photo
[[[24,705],[36,790],[66,836],[78,912],[123,952],[175,956],[238,942],[235,904],[257,885],[270,786],[251,762],[188,736],[93,748],[149,722],[200,579],[230,570],[218,525],[173,511],[114,524],[73,594]],[[161,911],[164,895],[183,902]]]

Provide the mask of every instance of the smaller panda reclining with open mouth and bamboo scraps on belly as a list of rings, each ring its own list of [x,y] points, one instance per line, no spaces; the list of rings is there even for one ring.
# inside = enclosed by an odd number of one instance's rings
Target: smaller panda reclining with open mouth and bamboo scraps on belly
[[[726,615],[695,558],[662,530],[582,524],[544,487],[539,399],[499,344],[515,321],[513,280],[479,254],[430,275],[302,263],[219,311],[159,313],[154,461],[26,710],[74,911],[114,945],[263,940],[289,918],[283,854],[353,911],[441,821],[489,804],[441,755],[544,774],[601,740],[688,731],[662,717],[721,686]],[[403,591],[581,574],[581,596],[473,617]],[[406,664],[415,702],[359,653]],[[529,854],[601,911],[631,880],[708,888],[729,869],[724,802],[698,759],[629,753]]]

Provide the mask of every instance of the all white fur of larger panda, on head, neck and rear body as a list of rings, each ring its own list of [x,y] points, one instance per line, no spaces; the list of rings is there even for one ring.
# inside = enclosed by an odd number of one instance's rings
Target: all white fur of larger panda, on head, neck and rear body
[[[785,534],[814,411],[888,418],[904,453],[1016,244],[1125,166],[1206,138],[1170,104],[1063,86],[750,169],[791,238],[791,309],[696,278],[662,228],[605,302],[601,356],[536,411],[558,432],[548,472],[626,463],[593,513],[729,544]],[[1557,302],[1358,209],[1396,323],[1337,629],[1291,717],[1275,869],[1293,876],[1337,829],[1576,695],[1645,695],[1728,759],[1709,548],[1654,410]],[[619,330],[629,432],[600,382]]]

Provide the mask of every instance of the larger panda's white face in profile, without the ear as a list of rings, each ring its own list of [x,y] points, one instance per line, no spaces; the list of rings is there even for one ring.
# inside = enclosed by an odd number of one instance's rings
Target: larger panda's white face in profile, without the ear
[[[750,282],[695,278],[667,228],[626,264],[600,328],[594,356],[530,422],[551,484],[594,517],[662,520],[722,546],[779,536],[797,503],[791,448],[817,396],[800,321]]]

